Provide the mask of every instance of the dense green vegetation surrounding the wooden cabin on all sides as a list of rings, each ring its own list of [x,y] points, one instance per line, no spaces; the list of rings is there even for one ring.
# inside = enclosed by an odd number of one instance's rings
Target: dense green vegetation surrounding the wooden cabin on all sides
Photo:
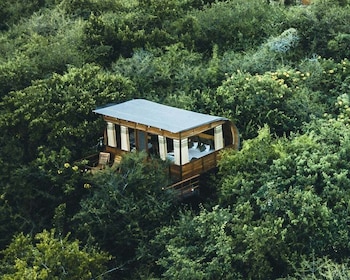
[[[349,279],[348,0],[0,0],[0,19],[3,279]],[[132,98],[239,128],[199,202],[143,153],[82,172],[92,110]]]

